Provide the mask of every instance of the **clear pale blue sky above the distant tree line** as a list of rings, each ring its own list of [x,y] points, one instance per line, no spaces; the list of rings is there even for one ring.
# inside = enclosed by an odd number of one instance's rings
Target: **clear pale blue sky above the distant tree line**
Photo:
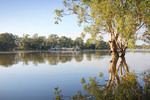
[[[0,0],[0,33],[24,34],[38,33],[48,37],[50,34],[75,39],[80,36],[83,26],[77,25],[77,17],[65,16],[58,25],[55,22],[55,9],[63,7],[63,0]],[[87,36],[85,40],[88,38]],[[104,36],[108,41],[109,37]],[[143,42],[138,41],[138,44]]]

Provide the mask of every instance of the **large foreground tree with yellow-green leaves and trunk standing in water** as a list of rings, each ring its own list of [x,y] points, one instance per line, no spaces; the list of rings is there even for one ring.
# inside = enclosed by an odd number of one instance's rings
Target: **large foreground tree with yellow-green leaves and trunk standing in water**
[[[103,34],[110,36],[112,56],[125,56],[126,48],[134,48],[135,41],[149,37],[149,0],[64,0],[64,8],[55,10],[56,24],[65,15],[75,14],[78,24],[85,25],[82,36],[90,34],[93,41]]]

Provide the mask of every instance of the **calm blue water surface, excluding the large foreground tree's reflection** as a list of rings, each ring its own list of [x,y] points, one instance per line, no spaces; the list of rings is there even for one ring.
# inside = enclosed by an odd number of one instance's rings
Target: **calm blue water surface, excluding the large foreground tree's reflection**
[[[110,60],[107,51],[0,53],[0,100],[51,100],[57,86],[72,96],[82,77],[108,80]],[[129,72],[149,71],[150,52],[127,52],[126,62]]]

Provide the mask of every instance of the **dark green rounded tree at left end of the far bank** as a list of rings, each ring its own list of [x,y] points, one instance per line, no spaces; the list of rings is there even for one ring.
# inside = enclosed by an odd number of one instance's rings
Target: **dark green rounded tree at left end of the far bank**
[[[11,33],[0,34],[0,50],[13,50],[18,46],[17,36]]]

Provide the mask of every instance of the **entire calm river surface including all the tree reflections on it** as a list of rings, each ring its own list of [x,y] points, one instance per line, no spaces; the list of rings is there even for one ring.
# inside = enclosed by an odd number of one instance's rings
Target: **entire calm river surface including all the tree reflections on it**
[[[141,75],[137,72],[150,68],[149,58],[150,53],[147,52],[127,52],[126,59],[113,58],[109,63],[111,56],[106,51],[1,53],[0,66],[9,68],[0,67],[0,100],[52,100],[56,86],[71,99],[73,95],[84,99],[97,97],[98,100],[100,97],[118,99],[122,96],[124,99],[134,96],[143,99],[143,96],[150,96],[150,71]],[[136,73],[131,73],[132,70]],[[99,72],[103,74],[94,77]],[[82,77],[83,87],[80,84]]]

